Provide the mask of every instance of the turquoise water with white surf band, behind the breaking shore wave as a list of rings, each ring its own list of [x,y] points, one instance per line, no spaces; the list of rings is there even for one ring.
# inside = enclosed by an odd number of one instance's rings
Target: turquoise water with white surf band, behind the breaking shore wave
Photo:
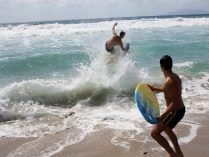
[[[130,58],[136,66],[155,73],[159,58],[169,54],[174,63],[193,63],[192,68],[178,68],[181,73],[196,76],[208,72],[208,17],[128,18],[118,22],[118,32],[127,32],[125,40],[131,43]],[[111,36],[113,23],[100,19],[91,23],[1,27],[0,85],[36,78],[75,77],[81,64],[89,65],[97,54],[105,53],[104,42]]]

